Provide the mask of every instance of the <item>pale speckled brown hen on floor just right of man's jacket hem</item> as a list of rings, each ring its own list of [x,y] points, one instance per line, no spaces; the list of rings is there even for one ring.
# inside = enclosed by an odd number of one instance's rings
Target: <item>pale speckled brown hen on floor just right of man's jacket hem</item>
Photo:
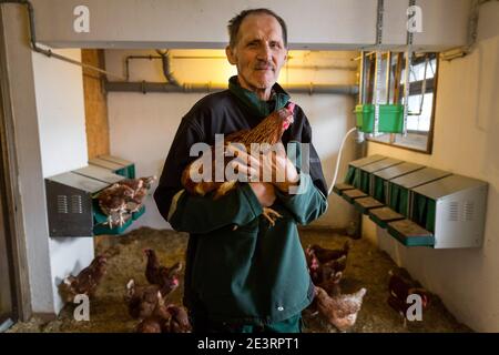
[[[346,332],[355,325],[367,290],[360,288],[353,294],[329,296],[322,287],[315,287],[318,312],[338,331]]]

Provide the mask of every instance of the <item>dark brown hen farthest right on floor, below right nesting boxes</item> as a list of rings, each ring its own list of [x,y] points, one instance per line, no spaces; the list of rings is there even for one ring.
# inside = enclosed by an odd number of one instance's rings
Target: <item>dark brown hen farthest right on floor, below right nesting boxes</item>
[[[395,272],[393,270],[388,273],[390,280],[388,282],[388,305],[398,312],[404,322],[404,327],[407,326],[407,310],[413,305],[407,303],[407,297],[411,294],[417,294],[421,297],[422,310],[429,305],[429,293],[422,287],[419,287],[416,282],[410,280],[408,275],[404,276],[403,272]]]

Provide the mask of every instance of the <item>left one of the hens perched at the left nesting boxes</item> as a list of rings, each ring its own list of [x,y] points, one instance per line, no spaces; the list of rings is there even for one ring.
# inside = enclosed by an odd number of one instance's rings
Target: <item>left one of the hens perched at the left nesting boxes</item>
[[[125,222],[126,202],[133,197],[132,187],[122,184],[112,184],[102,190],[96,196],[99,207],[108,215],[108,224],[110,227],[122,226]],[[129,215],[130,216],[130,215]]]

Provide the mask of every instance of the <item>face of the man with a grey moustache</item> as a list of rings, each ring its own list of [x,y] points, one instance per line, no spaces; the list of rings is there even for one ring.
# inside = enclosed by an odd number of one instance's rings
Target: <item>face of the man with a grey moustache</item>
[[[240,84],[267,94],[287,58],[279,22],[265,13],[247,16],[240,27],[235,48],[227,47],[225,52],[231,64],[237,67]]]

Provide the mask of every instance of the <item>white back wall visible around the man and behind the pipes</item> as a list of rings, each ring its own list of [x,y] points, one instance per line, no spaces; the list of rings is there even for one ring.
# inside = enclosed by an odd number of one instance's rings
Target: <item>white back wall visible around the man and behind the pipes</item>
[[[106,69],[123,70],[123,60],[131,51],[106,50]],[[133,54],[150,53],[133,51]],[[152,52],[154,54],[154,52]],[[354,84],[355,52],[292,52],[287,70],[281,71],[279,83],[334,83]],[[172,55],[224,55],[223,51],[172,51]],[[159,61],[131,61],[131,81],[164,81]],[[303,70],[296,65],[336,65],[347,70]],[[348,70],[348,68],[350,70]],[[352,70],[354,68],[354,70]],[[172,71],[183,82],[226,83],[235,69],[225,59],[192,60],[173,59]],[[204,94],[180,93],[123,93],[108,94],[111,153],[136,163],[139,175],[160,175],[174,134],[182,116]],[[314,144],[323,161],[327,183],[330,183],[334,166],[344,134],[354,124],[352,110],[354,99],[346,95],[293,95],[292,100],[303,106],[313,126]],[[136,143],[135,143],[136,142]],[[345,174],[346,163],[354,159],[354,143],[348,141],[338,176]],[[353,217],[353,209],[336,195],[332,195],[329,211],[316,224],[344,227]],[[159,214],[152,197],[146,200],[146,214],[133,227],[169,227]]]

